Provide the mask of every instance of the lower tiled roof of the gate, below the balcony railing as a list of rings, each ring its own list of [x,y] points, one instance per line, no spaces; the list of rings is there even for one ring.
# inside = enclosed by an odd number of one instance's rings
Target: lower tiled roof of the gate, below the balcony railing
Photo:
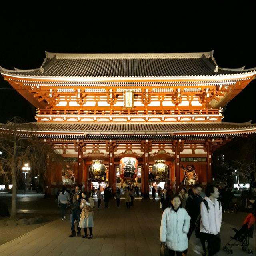
[[[131,137],[131,136],[149,136],[149,137],[182,137],[182,136],[223,136],[228,134],[242,135],[256,133],[256,124],[247,123],[118,123],[118,124],[100,124],[100,123],[54,123],[54,122],[34,122],[30,123],[33,132],[38,136],[47,137],[84,137],[84,138],[110,138],[110,137]],[[6,128],[5,125],[0,126]],[[11,128],[9,125],[7,128]],[[28,126],[18,130],[26,132]]]

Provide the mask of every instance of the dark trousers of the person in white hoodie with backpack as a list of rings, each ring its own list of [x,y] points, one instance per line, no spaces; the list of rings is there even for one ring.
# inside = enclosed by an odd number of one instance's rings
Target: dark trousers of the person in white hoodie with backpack
[[[201,243],[205,256],[212,256],[220,250],[220,234],[201,233]]]

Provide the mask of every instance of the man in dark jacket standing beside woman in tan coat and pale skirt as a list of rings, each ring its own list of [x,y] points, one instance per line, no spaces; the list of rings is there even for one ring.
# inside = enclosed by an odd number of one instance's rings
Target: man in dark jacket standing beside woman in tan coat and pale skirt
[[[75,230],[75,221],[77,225],[77,236],[81,236],[81,228],[78,227],[79,221],[80,221],[80,204],[82,200],[82,192],[81,192],[81,185],[76,186],[75,191],[71,194],[71,211],[70,211],[70,227],[71,227],[71,234],[69,237],[76,236],[76,230]]]

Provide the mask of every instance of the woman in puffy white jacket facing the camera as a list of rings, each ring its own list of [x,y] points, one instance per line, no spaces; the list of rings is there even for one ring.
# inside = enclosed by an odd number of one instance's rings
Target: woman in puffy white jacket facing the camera
[[[190,216],[184,208],[180,208],[179,195],[172,196],[171,206],[166,208],[162,215],[160,227],[160,241],[166,243],[169,255],[182,256],[188,249],[188,230]]]

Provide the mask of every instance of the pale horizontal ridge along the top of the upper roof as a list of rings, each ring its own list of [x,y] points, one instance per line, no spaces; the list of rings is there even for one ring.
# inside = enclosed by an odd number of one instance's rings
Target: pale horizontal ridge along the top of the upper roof
[[[57,59],[157,59],[157,58],[212,58],[212,52],[183,52],[183,53],[54,53],[46,51],[46,58]]]

